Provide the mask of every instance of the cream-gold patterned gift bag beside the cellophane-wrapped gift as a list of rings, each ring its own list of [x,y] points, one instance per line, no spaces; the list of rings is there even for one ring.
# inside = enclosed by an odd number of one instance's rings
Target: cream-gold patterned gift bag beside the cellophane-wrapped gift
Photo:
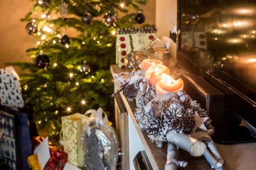
[[[83,124],[87,117],[80,113],[61,117],[62,138],[67,161],[76,167],[84,167],[83,146],[80,141]]]

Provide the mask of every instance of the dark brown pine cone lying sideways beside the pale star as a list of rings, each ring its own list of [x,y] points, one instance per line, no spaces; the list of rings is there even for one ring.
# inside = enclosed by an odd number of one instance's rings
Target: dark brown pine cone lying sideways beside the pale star
[[[179,117],[172,119],[170,126],[175,132],[190,132],[195,127],[195,120],[189,117]]]

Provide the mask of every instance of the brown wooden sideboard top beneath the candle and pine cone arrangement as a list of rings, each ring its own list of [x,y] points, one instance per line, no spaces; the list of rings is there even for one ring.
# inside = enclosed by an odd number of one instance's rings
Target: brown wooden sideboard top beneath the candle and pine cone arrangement
[[[127,71],[121,68],[118,68],[116,65],[111,65],[111,73],[118,73]],[[135,101],[129,102],[128,99],[120,93],[122,100],[125,104],[125,107],[131,116],[132,121],[137,123],[137,120],[134,117],[135,109],[137,108]],[[145,152],[148,155],[148,159],[151,162],[151,165],[154,170],[164,170],[164,166],[166,164],[166,155],[167,155],[167,143],[163,144],[163,147],[159,148],[156,146],[154,142],[151,142],[148,138],[147,132],[143,132],[140,130],[138,126],[135,126],[138,135],[140,136],[140,140],[143,143],[145,148]],[[179,152],[179,160],[187,161],[188,166],[184,168],[184,170],[211,170],[210,164],[206,161],[204,156],[201,157],[193,157],[185,150],[180,150]],[[230,170],[227,164],[224,164],[224,170]]]

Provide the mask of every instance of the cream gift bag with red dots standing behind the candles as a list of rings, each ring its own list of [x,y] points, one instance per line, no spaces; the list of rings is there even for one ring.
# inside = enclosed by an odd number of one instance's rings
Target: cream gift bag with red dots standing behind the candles
[[[152,40],[156,38],[154,26],[140,28],[118,28],[116,38],[116,64],[125,68],[124,57],[133,51],[147,51]]]

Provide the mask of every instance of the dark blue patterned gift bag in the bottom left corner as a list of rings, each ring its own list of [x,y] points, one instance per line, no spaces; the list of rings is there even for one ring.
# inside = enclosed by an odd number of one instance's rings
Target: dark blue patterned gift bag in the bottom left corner
[[[27,157],[32,155],[26,113],[0,105],[0,169],[29,170]]]

